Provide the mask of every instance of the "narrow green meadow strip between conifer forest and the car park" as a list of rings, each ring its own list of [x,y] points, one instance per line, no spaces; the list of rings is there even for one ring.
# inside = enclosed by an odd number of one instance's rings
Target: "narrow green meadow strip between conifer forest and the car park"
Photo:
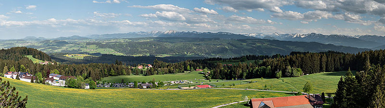
[[[134,81],[150,81],[152,79],[155,79],[157,81],[205,79],[203,77],[203,74],[198,74],[199,72],[201,71],[166,74],[166,75],[151,75],[151,76],[141,76],[141,75],[114,76],[114,77],[105,77],[102,80],[106,82],[121,82],[121,80],[124,79],[125,82],[134,82]]]

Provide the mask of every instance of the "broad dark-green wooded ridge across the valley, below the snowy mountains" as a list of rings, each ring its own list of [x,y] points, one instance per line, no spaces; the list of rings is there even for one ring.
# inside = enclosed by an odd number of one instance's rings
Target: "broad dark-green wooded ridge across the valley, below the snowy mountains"
[[[182,55],[204,57],[238,57],[244,55],[288,55],[293,51],[339,51],[358,53],[370,49],[335,46],[315,42],[292,42],[268,39],[219,39],[219,38],[134,38],[124,42],[98,44],[126,55]]]

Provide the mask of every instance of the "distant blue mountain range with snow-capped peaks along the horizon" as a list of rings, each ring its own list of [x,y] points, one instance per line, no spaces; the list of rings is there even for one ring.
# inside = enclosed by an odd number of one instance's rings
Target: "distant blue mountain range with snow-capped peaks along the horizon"
[[[340,34],[279,34],[279,33],[241,33],[234,34],[228,32],[197,32],[197,31],[141,31],[116,34],[92,34],[87,36],[59,37],[51,40],[78,40],[78,39],[122,39],[122,38],[147,38],[147,37],[169,37],[169,38],[220,38],[220,39],[270,39],[280,41],[299,41],[317,42],[323,44],[333,44],[337,46],[350,46],[358,48],[383,49],[385,48],[385,37],[377,35],[357,35],[348,36]],[[45,39],[36,37],[26,37],[28,39]]]

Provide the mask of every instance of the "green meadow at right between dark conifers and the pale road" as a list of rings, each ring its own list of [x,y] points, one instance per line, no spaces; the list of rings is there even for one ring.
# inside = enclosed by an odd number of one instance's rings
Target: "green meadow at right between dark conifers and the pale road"
[[[337,89],[338,81],[341,75],[345,75],[346,71],[340,72],[324,72],[317,74],[305,75],[302,77],[280,78],[280,79],[250,79],[246,81],[257,81],[256,83],[248,83],[242,85],[235,85],[231,88],[250,88],[250,89],[264,89],[264,85],[270,90],[278,91],[302,91],[306,82],[313,84],[312,93],[334,93]],[[353,72],[355,74],[355,72]]]

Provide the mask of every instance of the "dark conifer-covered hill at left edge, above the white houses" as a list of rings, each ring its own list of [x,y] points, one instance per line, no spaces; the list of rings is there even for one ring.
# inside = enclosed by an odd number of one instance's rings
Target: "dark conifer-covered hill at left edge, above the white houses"
[[[51,57],[42,51],[27,47],[12,47],[9,49],[0,50],[0,59],[4,60],[15,60],[18,61],[24,56],[32,55],[32,57],[42,60],[51,61]]]

